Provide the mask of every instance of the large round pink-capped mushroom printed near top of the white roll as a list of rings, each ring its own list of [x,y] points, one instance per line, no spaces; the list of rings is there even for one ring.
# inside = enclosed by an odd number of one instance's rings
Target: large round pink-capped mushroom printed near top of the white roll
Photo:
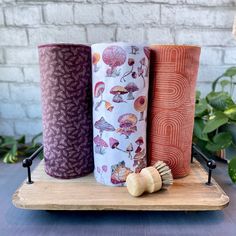
[[[107,77],[116,77],[119,75],[116,68],[125,63],[126,52],[119,46],[109,46],[103,51],[102,59],[104,63],[109,66],[106,71]]]

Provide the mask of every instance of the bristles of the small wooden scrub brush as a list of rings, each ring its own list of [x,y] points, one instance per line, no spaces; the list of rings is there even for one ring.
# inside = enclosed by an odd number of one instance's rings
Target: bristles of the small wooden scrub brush
[[[167,189],[173,184],[173,176],[170,167],[164,161],[158,161],[154,167],[159,172],[162,179],[162,189]]]

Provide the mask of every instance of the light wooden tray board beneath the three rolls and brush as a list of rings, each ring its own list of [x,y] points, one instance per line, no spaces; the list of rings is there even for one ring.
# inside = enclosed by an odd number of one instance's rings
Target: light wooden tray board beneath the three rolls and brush
[[[126,187],[98,184],[93,175],[73,180],[58,180],[45,174],[42,161],[32,173],[33,184],[25,182],[13,195],[18,208],[35,210],[148,210],[205,211],[221,210],[229,197],[194,159],[191,173],[174,181],[169,190],[135,198]]]

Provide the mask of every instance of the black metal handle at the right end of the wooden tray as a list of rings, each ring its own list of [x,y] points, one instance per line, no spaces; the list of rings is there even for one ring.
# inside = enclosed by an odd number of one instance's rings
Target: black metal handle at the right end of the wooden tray
[[[202,151],[201,149],[196,145],[192,144],[192,159],[191,162],[193,162],[193,156],[201,157],[208,167],[208,180],[206,182],[207,185],[212,185],[211,182],[211,176],[212,176],[212,170],[216,168],[216,162],[212,159],[209,159]]]

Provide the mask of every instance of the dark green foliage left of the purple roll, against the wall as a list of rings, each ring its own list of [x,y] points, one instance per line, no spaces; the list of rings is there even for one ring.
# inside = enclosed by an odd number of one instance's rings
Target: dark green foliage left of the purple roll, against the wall
[[[40,147],[37,140],[41,136],[42,133],[37,134],[29,143],[26,143],[25,135],[20,138],[0,136],[0,158],[3,158],[4,163],[16,163],[19,157],[30,156]]]

